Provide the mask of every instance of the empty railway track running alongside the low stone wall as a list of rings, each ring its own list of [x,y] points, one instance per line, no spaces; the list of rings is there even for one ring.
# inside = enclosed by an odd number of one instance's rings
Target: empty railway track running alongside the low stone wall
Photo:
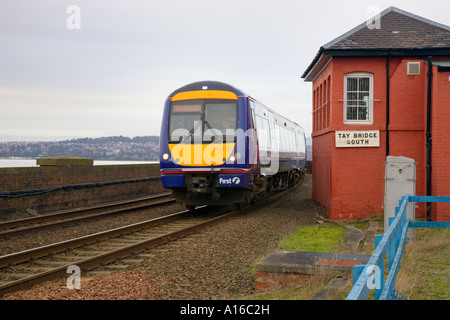
[[[171,193],[163,193],[139,199],[109,203],[106,205],[103,204],[76,210],[64,210],[37,217],[16,219],[0,223],[0,237],[28,231],[43,230],[68,223],[86,221],[112,214],[125,213],[171,203],[175,203],[175,199],[171,197]]]

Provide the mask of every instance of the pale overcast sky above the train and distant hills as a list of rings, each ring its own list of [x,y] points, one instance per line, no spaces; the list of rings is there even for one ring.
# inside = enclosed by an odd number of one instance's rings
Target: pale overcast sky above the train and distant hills
[[[159,135],[167,96],[200,80],[310,136],[303,71],[390,6],[450,25],[448,0],[0,0],[0,141]]]

